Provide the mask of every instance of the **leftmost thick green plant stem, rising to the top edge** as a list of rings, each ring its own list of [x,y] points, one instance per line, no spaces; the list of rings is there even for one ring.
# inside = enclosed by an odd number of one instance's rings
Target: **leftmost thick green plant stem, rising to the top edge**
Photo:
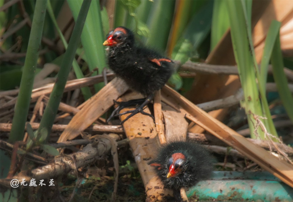
[[[40,48],[45,21],[46,7],[47,0],[36,1],[30,38],[28,41],[28,49],[23,67],[23,74],[21,77],[18,98],[14,110],[12,128],[8,138],[8,141],[12,143],[15,141],[20,141],[23,138],[25,121],[27,120],[28,109],[30,105],[30,96],[33,90],[35,71],[39,55],[38,51]]]

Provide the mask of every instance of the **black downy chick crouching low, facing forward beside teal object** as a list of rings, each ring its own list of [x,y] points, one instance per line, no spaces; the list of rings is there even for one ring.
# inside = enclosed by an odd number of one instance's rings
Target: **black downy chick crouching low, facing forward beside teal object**
[[[174,141],[163,145],[154,166],[165,188],[172,189],[177,201],[182,201],[180,189],[209,178],[213,170],[213,157],[194,142]]]

